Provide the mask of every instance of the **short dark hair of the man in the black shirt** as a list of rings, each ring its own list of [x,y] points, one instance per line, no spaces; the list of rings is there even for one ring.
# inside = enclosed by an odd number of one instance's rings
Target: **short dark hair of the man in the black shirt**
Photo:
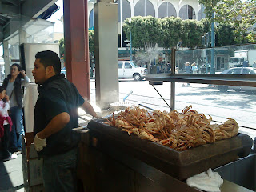
[[[61,60],[59,59],[58,54],[56,54],[54,51],[40,51],[37,54],[35,54],[35,58],[40,59],[40,62],[43,66],[45,66],[45,68],[47,66],[53,66],[55,74],[61,73]]]

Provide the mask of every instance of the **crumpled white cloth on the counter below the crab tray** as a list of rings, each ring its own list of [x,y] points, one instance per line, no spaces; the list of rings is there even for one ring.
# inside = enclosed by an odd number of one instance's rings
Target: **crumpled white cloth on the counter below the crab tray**
[[[220,192],[219,187],[223,184],[223,179],[217,172],[209,169],[186,179],[186,184],[190,187],[198,188],[198,190]]]

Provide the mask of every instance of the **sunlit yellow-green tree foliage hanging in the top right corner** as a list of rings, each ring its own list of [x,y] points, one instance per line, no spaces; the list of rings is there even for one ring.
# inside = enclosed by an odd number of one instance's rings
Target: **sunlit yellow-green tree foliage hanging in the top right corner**
[[[206,6],[206,17],[211,18],[215,13],[214,21],[234,25],[234,42],[256,42],[252,26],[256,23],[255,0],[199,0]]]

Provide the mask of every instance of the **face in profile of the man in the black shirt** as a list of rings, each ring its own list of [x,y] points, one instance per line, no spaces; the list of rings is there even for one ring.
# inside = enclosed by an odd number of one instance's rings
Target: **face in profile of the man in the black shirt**
[[[34,70],[32,70],[32,74],[34,76],[34,81],[37,84],[42,84],[46,81],[46,68],[40,62],[40,59],[36,59],[34,61]]]

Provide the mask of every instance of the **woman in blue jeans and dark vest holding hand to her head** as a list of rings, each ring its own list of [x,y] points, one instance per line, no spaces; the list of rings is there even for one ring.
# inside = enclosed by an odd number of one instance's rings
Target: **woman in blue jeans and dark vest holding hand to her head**
[[[22,151],[22,136],[24,133],[23,126],[23,86],[30,84],[30,78],[17,63],[10,66],[10,74],[2,82],[6,94],[10,98],[10,118],[13,126],[10,132],[10,148],[14,154],[20,154]]]

